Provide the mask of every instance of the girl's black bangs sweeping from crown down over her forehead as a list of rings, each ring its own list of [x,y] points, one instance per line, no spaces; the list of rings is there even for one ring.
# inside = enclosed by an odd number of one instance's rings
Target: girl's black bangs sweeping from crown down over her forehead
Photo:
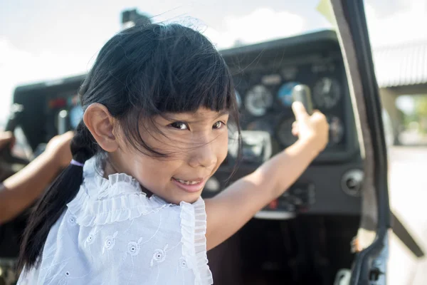
[[[200,33],[179,25],[157,26],[156,47],[128,86],[144,117],[162,113],[220,111],[236,106],[233,79],[226,62]],[[176,33],[176,29],[181,30]],[[141,95],[143,94],[143,95]]]

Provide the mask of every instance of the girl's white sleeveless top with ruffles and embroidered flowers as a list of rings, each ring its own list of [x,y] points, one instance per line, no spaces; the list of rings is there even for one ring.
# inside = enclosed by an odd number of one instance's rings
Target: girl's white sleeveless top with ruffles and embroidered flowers
[[[213,284],[206,211],[147,197],[123,173],[102,177],[95,158],[46,239],[40,262],[18,284]]]

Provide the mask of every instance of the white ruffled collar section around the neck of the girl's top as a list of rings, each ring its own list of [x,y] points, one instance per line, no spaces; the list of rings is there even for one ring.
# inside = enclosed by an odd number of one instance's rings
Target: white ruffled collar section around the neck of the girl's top
[[[162,198],[148,198],[139,182],[125,173],[105,179],[93,157],[83,167],[83,184],[76,197],[67,204],[78,224],[84,227],[135,219],[169,207]]]

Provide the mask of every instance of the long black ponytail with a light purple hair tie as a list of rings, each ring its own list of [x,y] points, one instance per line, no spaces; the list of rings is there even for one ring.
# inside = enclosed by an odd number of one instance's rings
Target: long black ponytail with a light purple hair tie
[[[97,144],[82,120],[71,141],[73,160],[83,164],[96,152]],[[28,269],[36,263],[51,227],[63,214],[68,202],[77,195],[82,182],[83,167],[70,164],[38,201],[23,233],[19,270],[24,266]]]

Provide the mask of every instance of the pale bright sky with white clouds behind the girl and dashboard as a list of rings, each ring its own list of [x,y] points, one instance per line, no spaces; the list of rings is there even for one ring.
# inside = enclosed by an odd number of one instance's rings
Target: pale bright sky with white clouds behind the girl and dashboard
[[[102,45],[120,31],[120,13],[138,9],[154,21],[192,26],[218,48],[331,28],[316,10],[320,0],[1,0],[0,121],[14,88],[86,73]],[[417,41],[427,33],[421,0],[367,0],[374,46]]]

